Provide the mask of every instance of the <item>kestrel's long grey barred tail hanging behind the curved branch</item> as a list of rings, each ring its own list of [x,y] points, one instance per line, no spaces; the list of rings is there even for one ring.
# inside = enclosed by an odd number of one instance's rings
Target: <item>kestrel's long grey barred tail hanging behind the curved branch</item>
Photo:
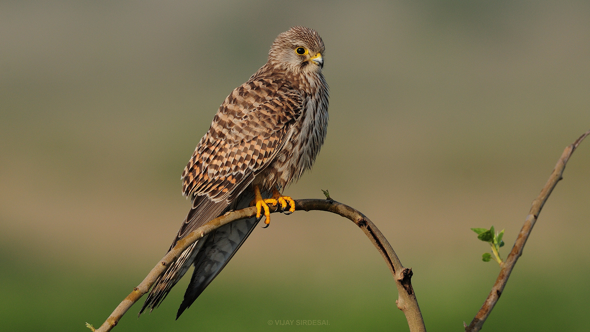
[[[270,197],[271,193],[264,193],[263,196]],[[245,190],[221,214],[231,210],[244,209],[253,199],[254,192]],[[219,227],[215,232],[204,236],[187,248],[175,262],[169,264],[168,269],[156,280],[138,316],[148,307],[150,307],[150,312],[158,307],[172,287],[176,285],[176,282],[194,264],[195,270],[191,282],[186,288],[184,300],[176,314],[176,319],[178,319],[227,265],[257,223],[255,217],[237,220]]]

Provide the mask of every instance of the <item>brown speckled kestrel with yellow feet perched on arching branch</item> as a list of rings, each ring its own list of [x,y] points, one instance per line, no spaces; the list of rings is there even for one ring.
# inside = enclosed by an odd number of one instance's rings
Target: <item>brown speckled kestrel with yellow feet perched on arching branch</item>
[[[192,209],[179,239],[227,211],[257,206],[257,217],[220,227],[169,264],[151,289],[139,314],[152,311],[191,265],[191,283],[176,319],[221,272],[268,204],[295,210],[281,191],[312,167],[326,137],[328,86],[322,74],[324,43],[310,28],[283,32],[268,52],[268,61],[219,106],[211,128],[196,146],[182,172],[182,193]]]

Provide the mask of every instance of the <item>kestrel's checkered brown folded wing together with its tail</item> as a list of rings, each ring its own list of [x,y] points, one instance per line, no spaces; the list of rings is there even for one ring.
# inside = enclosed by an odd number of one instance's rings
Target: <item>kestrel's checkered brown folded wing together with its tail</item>
[[[250,196],[248,186],[281,150],[302,108],[303,96],[285,82],[273,79],[248,81],[225,99],[182,173],[183,194],[191,197],[193,206],[171,249],[179,239],[225,211],[237,209],[238,204],[240,209],[247,207],[244,197]],[[148,307],[150,311],[158,307],[195,263],[180,315],[250,235],[255,220],[248,220],[230,223],[186,249],[160,275],[139,314]]]

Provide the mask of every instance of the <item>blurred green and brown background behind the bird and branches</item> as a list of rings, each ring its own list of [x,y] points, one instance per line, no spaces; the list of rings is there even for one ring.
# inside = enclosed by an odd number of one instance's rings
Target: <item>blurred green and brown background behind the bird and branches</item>
[[[292,25],[326,43],[330,123],[287,193],[363,211],[414,271],[427,328],[463,330],[499,272],[470,227],[505,228],[505,258],[590,128],[590,2],[0,2],[2,330],[101,325],[175,236],[179,177],[219,104]],[[589,165],[587,140],[484,330],[590,330]],[[178,321],[188,278],[114,331],[408,330],[356,226],[273,220]]]

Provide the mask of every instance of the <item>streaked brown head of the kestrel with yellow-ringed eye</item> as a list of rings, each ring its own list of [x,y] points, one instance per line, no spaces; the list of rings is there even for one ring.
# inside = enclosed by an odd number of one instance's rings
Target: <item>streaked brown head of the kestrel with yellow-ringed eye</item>
[[[324,66],[324,42],[317,31],[293,27],[277,36],[268,52],[270,66],[290,73],[313,73]]]

